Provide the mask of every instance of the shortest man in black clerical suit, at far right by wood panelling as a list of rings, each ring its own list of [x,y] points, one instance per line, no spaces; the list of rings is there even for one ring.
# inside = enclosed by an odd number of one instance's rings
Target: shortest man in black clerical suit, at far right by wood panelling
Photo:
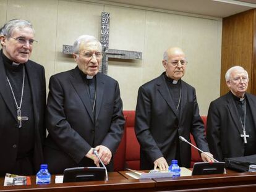
[[[207,117],[207,140],[218,161],[256,154],[256,96],[246,93],[248,73],[235,66],[225,78],[230,91],[211,102]]]

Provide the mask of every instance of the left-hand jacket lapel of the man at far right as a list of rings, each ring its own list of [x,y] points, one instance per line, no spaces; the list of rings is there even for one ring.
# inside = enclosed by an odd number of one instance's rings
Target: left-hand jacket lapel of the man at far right
[[[234,124],[236,125],[237,130],[239,131],[240,134],[243,134],[241,120],[236,109],[236,104],[234,102],[231,91],[229,91],[229,93],[227,94],[227,106],[231,114],[231,117],[234,121]]]

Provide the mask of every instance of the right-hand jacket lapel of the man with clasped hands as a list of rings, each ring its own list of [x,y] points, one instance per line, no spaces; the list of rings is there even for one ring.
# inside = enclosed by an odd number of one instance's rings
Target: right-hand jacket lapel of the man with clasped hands
[[[100,108],[103,101],[103,93],[104,93],[104,76],[101,73],[97,73],[96,75],[96,116],[95,120],[98,119],[100,114]]]

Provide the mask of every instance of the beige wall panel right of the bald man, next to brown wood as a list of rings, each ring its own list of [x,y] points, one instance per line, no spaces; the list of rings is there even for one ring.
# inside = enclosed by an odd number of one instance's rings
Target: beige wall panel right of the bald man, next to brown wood
[[[195,87],[200,114],[207,115],[220,96],[221,22],[184,17],[183,23],[182,48],[189,61],[183,79]]]

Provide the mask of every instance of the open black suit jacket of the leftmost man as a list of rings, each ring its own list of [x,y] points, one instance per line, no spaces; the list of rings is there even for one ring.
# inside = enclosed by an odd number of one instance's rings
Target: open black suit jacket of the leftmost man
[[[35,121],[34,169],[37,172],[43,162],[43,141],[46,137],[45,108],[46,86],[43,66],[28,60],[25,64],[33,100]],[[17,107],[6,79],[6,70],[0,57],[0,175],[13,173],[19,146]],[[24,138],[25,139],[25,138]]]

